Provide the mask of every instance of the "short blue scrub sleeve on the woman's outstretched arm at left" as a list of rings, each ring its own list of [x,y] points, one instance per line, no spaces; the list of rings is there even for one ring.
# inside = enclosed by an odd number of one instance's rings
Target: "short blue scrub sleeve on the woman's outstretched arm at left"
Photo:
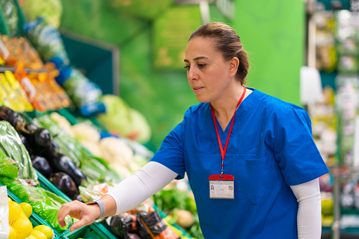
[[[151,161],[162,164],[178,173],[176,179],[182,179],[185,176],[184,138],[185,128],[189,117],[190,109],[185,111],[183,121],[176,125],[176,127],[164,138],[161,148],[151,159]]]

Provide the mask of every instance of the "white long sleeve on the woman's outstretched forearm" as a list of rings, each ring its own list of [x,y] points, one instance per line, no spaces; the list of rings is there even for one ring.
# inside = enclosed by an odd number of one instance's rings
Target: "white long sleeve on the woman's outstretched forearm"
[[[166,166],[150,161],[107,192],[116,201],[116,215],[137,207],[171,183],[176,176],[178,174]]]

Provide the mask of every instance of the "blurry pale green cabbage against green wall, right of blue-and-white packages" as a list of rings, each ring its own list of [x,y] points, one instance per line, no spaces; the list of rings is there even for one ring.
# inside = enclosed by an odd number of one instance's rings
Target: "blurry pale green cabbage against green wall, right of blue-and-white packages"
[[[142,143],[150,140],[150,125],[139,111],[130,108],[123,99],[112,94],[104,95],[102,102],[106,106],[106,113],[98,114],[97,119],[107,130]]]

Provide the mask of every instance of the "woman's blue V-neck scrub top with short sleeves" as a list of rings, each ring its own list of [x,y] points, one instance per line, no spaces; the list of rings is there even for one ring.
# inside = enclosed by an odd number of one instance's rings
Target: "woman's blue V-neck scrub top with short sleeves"
[[[253,89],[251,89],[253,90]],[[217,125],[219,125],[217,121]],[[231,122],[223,132],[226,143]],[[209,103],[191,106],[152,161],[188,175],[205,238],[298,238],[298,203],[289,185],[328,173],[304,109],[253,90],[238,107],[224,159],[234,199],[210,199],[221,152]]]

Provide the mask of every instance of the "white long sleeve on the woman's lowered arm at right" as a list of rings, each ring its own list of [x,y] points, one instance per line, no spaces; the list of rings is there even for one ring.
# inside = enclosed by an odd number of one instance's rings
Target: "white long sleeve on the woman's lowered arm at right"
[[[291,186],[298,202],[298,238],[320,239],[322,235],[322,202],[319,178]]]

